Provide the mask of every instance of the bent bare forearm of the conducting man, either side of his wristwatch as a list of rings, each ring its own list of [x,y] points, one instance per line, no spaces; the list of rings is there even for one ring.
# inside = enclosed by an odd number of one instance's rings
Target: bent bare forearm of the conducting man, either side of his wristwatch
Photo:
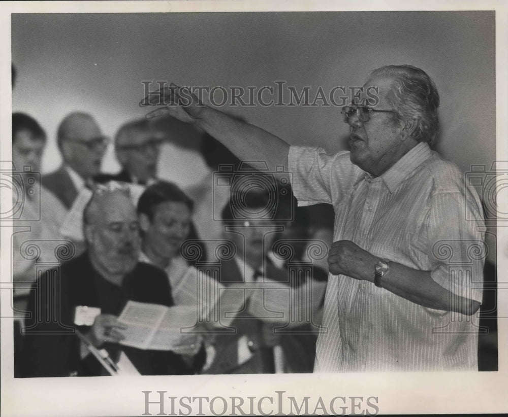
[[[374,265],[378,258],[369,254],[358,269],[357,279],[367,280],[374,285]],[[458,296],[437,284],[430,271],[421,271],[396,262],[390,262],[390,271],[382,277],[382,286],[406,300],[424,307],[456,311],[472,315],[480,303]]]

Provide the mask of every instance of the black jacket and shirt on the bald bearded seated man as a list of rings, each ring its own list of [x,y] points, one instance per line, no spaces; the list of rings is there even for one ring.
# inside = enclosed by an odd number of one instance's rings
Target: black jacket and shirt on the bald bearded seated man
[[[30,292],[28,311],[32,319],[26,321],[29,333],[24,336],[23,376],[105,374],[92,355],[84,360],[80,358],[80,340],[72,333],[75,328],[75,307],[78,305],[100,307],[102,313],[114,315],[119,315],[128,300],[173,305],[169,282],[162,270],[140,262],[132,272],[125,275],[121,288],[118,288],[93,269],[88,253],[85,252],[61,266],[59,299],[56,300],[60,307],[59,323],[56,320],[44,323],[40,319],[36,320],[36,312],[48,309],[47,297],[58,294],[58,286],[54,285],[52,278],[56,273],[53,271],[44,274]],[[55,299],[50,298],[49,302],[54,304]],[[87,332],[89,327],[80,326],[77,329]],[[194,369],[189,369],[180,355],[170,351],[141,350],[117,343],[105,343],[103,347],[113,359],[119,356],[120,350],[123,351],[143,375],[194,373]]]

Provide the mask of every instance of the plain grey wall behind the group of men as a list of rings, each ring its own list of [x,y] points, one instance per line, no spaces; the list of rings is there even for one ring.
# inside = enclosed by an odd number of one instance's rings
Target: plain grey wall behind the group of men
[[[282,80],[297,90],[310,86],[313,97],[320,86],[361,86],[376,67],[410,63],[434,79],[441,95],[437,149],[464,171],[490,167],[494,19],[482,11],[18,14],[13,111],[34,116],[47,131],[47,172],[60,163],[55,132],[66,114],[89,112],[113,136],[147,113],[138,107],[142,80],[258,88]],[[348,129],[337,107],[224,109],[291,144],[344,149]],[[165,169],[173,151],[161,161]],[[103,170],[117,168],[110,149]]]

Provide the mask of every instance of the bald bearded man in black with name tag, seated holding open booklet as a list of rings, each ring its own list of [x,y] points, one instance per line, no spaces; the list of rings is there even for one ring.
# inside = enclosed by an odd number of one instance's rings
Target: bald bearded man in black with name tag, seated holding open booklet
[[[134,365],[143,375],[194,373],[172,351],[120,344],[126,327],[117,316],[128,301],[170,307],[173,298],[165,273],[138,262],[140,236],[134,204],[128,190],[110,184],[99,186],[85,208],[87,251],[61,266],[59,299],[53,296],[57,292],[51,292],[54,274],[40,277],[31,291],[24,376],[107,374],[107,367],[103,369],[101,361],[90,354],[93,348],[103,349],[112,362]],[[51,320],[41,317],[49,309],[59,314]],[[73,329],[84,336],[82,341]]]

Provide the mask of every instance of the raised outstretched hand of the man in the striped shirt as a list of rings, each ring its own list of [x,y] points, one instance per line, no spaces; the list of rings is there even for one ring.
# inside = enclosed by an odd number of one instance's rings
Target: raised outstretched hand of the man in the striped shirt
[[[140,101],[139,106],[158,107],[148,113],[147,118],[172,116],[186,123],[194,123],[205,108],[198,97],[190,93],[189,88],[178,87],[173,83],[170,87],[148,94]]]

